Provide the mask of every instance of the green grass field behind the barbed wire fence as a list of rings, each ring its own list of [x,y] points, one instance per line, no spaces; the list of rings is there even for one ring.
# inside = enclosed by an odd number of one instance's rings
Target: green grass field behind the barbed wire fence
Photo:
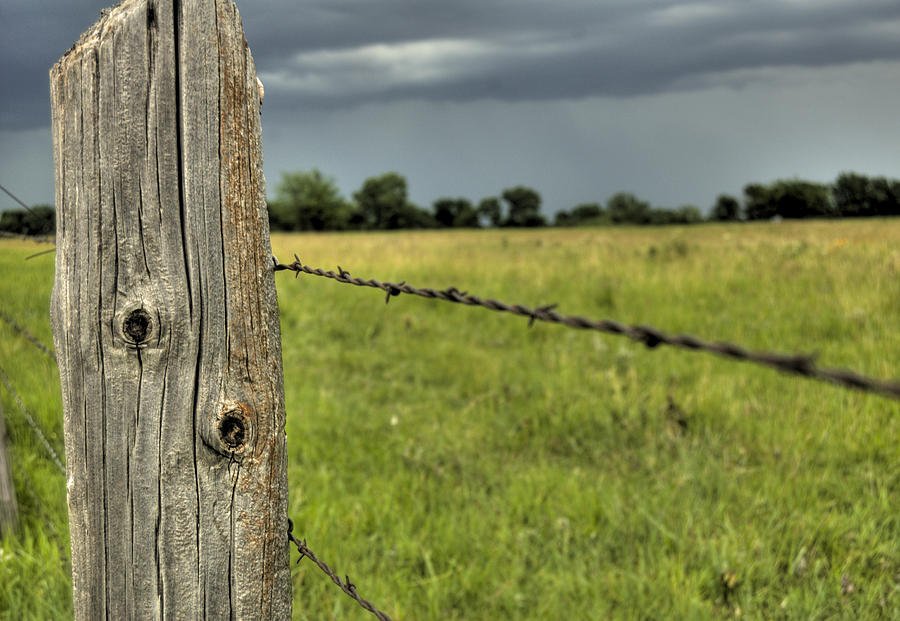
[[[900,220],[276,235],[276,255],[900,376]],[[0,242],[44,342],[52,255]],[[395,619],[900,618],[900,403],[707,354],[276,275],[295,533]],[[52,361],[0,367],[62,450]],[[70,615],[65,484],[0,387],[0,617]],[[296,559],[296,553],[292,555]],[[295,619],[372,618],[309,561]]]

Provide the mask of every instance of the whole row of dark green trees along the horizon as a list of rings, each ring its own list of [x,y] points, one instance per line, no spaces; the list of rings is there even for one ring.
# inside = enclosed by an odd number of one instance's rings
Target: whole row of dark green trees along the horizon
[[[430,209],[409,200],[406,178],[396,172],[366,179],[352,200],[321,171],[284,173],[269,201],[269,222],[280,231],[346,231],[428,228],[601,226],[613,224],[695,224],[704,221],[773,218],[853,218],[900,215],[900,181],[841,173],[833,183],[780,179],[744,186],[742,200],[721,194],[704,217],[694,205],[654,207],[634,194],[619,192],[606,204],[576,205],[558,212],[552,223],[541,212],[541,195],[526,186],[503,190],[477,203],[439,198]],[[50,235],[55,214],[50,205],[0,214],[0,231]]]

